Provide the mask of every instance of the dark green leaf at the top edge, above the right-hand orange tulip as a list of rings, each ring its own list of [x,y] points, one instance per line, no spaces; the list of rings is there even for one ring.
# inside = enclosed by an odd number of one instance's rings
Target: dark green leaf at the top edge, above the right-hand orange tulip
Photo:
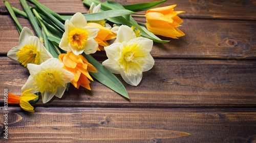
[[[134,4],[134,5],[122,5],[126,10],[131,10],[131,11],[143,11],[143,10],[148,10],[153,7],[156,7],[158,5],[161,5],[165,3],[167,0],[164,1],[158,1],[158,2],[151,2],[151,3],[140,3],[140,4]]]

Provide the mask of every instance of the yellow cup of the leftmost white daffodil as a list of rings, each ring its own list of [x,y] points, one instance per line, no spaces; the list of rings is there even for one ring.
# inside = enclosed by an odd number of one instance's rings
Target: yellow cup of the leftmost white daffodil
[[[23,48],[20,48],[19,51],[16,53],[18,56],[19,63],[22,63],[24,67],[27,67],[28,64],[37,64],[39,57],[38,57],[38,51],[35,49],[35,47],[31,45],[23,46]]]

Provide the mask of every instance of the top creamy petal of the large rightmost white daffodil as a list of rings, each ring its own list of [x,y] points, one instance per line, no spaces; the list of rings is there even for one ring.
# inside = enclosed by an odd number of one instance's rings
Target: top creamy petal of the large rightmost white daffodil
[[[116,37],[116,42],[122,43],[122,42],[128,42],[132,39],[136,38],[136,34],[132,30],[131,27],[127,25],[121,25],[119,27],[117,37]]]

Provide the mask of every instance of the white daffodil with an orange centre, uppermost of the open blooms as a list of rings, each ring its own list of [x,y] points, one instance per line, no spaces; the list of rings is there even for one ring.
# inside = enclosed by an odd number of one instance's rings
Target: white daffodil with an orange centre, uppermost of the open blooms
[[[95,53],[98,43],[94,40],[99,28],[87,26],[87,20],[81,13],[76,13],[70,20],[65,21],[65,33],[60,40],[59,47],[72,51],[75,55]]]

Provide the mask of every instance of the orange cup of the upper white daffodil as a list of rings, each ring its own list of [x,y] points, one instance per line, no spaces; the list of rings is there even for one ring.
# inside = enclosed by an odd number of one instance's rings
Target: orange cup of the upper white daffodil
[[[87,39],[88,32],[80,28],[75,28],[75,30],[72,30],[69,33],[69,43],[78,49],[81,49],[86,45]]]

